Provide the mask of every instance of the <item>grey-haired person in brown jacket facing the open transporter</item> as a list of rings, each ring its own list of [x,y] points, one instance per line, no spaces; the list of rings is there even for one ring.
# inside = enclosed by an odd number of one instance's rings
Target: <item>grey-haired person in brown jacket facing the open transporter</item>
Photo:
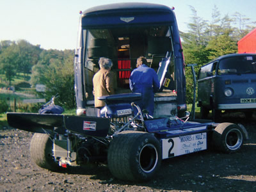
[[[108,58],[100,58],[100,70],[93,76],[93,95],[95,108],[101,109],[105,102],[97,99],[103,95],[115,94],[115,74],[111,71],[113,63]],[[99,111],[98,111],[99,116]]]

